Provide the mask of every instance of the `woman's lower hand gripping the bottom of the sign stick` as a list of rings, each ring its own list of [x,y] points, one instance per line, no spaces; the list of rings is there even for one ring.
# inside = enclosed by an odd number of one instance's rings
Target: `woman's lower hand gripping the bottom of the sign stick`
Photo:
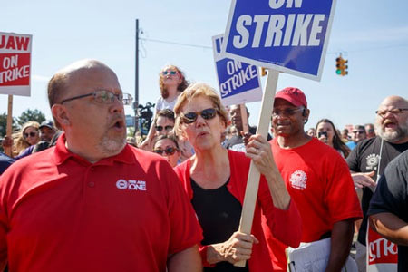
[[[241,260],[248,260],[251,257],[254,243],[259,243],[255,236],[236,231],[228,241],[209,247],[207,253],[208,262],[214,264],[227,261],[235,264]]]

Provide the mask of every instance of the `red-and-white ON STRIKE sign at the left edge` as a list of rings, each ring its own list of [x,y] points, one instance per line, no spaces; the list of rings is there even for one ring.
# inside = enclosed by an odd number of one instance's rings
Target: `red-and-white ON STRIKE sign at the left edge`
[[[0,32],[0,93],[30,96],[33,36]]]

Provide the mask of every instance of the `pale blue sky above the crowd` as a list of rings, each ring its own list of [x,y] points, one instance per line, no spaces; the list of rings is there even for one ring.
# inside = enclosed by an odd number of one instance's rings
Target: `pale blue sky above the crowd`
[[[304,0],[306,1],[306,0]],[[313,1],[313,0],[308,0]],[[32,95],[15,96],[14,116],[39,109],[51,118],[46,83],[69,63],[92,58],[118,74],[124,92],[134,93],[135,19],[142,38],[211,46],[211,36],[225,31],[230,1],[3,1],[0,32],[33,34]],[[320,82],[281,74],[280,90],[296,86],[306,93],[311,110],[306,129],[328,118],[345,124],[374,121],[374,111],[388,95],[408,98],[408,1],[338,0]],[[189,81],[217,87],[212,49],[140,44],[140,102],[156,102],[158,73],[175,64]],[[349,74],[335,74],[335,58],[342,52]],[[263,79],[265,81],[265,79]],[[248,104],[249,123],[257,124],[260,102]],[[0,94],[0,112],[7,96]],[[132,113],[130,107],[126,112]]]

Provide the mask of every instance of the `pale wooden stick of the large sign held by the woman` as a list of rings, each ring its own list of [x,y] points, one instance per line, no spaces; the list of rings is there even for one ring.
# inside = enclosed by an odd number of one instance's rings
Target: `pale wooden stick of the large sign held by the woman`
[[[267,84],[262,97],[262,107],[257,123],[257,134],[261,134],[267,139],[267,130],[269,129],[270,118],[274,107],[275,93],[277,92],[277,78],[279,72],[267,69]],[[250,234],[252,221],[254,219],[255,204],[257,202],[257,189],[259,186],[260,173],[254,162],[251,160],[249,166],[247,189],[245,190],[244,204],[242,206],[241,220],[239,222],[239,231]],[[234,264],[236,267],[245,267],[245,260]]]

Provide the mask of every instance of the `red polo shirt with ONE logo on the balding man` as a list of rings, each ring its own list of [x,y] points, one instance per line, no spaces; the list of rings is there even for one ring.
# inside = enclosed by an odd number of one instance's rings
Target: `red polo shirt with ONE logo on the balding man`
[[[0,261],[10,271],[165,271],[201,241],[170,165],[127,145],[90,163],[55,148],[15,162],[0,180]]]

